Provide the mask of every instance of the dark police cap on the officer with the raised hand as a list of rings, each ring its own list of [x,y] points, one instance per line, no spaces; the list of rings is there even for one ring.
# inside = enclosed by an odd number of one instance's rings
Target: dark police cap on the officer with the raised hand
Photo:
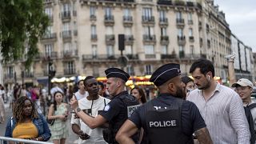
[[[105,70],[106,78],[122,78],[125,82],[128,81],[130,75],[118,68],[109,68]]]

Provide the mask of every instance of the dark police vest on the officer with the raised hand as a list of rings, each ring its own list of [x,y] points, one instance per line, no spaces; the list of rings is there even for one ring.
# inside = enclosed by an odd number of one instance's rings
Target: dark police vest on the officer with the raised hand
[[[123,111],[125,111],[125,115],[122,115],[121,121],[114,122],[111,120],[109,122],[110,124],[109,129],[110,129],[111,141],[112,141],[110,143],[118,143],[115,141],[115,135],[118,133],[118,130],[120,129],[122,124],[126,122],[126,119],[130,117],[130,115],[134,112],[134,110],[138,108],[138,106],[140,106],[138,100],[134,96],[128,93],[122,94],[116,98],[119,98],[122,101],[124,106]],[[135,143],[138,142],[138,137],[139,137],[138,134],[134,134],[134,136],[132,137]]]

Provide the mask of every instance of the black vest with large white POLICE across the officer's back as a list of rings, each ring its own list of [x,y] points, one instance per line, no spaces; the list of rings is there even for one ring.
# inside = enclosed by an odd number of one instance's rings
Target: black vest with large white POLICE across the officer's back
[[[159,98],[156,101],[162,102]],[[164,108],[154,107],[152,101],[146,104],[146,134],[150,144],[193,143],[192,135],[182,132],[182,99],[175,98],[174,102]]]

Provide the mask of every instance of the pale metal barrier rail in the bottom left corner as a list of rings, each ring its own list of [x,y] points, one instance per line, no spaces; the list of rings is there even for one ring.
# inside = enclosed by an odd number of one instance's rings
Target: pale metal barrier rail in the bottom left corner
[[[33,140],[28,140],[28,139],[19,139],[19,138],[8,138],[8,137],[0,137],[0,143],[6,143],[8,144],[9,142],[15,142],[15,143],[34,143],[34,144],[53,144],[52,142],[42,142],[42,141],[33,141]]]

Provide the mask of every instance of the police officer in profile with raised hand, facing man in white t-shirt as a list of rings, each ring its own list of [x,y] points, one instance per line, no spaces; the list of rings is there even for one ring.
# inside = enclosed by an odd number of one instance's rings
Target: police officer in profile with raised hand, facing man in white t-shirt
[[[102,113],[92,118],[78,107],[78,102],[74,98],[70,104],[82,122],[85,122],[91,129],[102,126],[105,122],[109,122],[107,134],[103,134],[104,139],[108,143],[118,143],[115,140],[115,135],[126,119],[130,117],[130,114],[139,106],[139,103],[134,96],[128,94],[125,90],[126,82],[130,78],[129,74],[118,68],[107,69],[105,70],[105,74],[107,78],[106,90],[109,91],[112,100],[105,106]],[[133,140],[134,142],[138,142],[137,133],[134,134]]]

